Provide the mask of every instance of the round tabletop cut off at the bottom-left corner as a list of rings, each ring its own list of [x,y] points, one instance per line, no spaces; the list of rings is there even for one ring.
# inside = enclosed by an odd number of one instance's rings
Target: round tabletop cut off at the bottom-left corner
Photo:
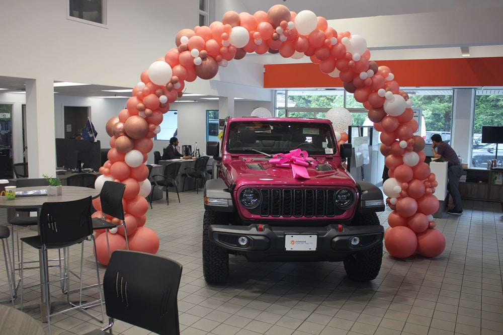
[[[6,305],[0,305],[0,332],[3,334],[45,335],[40,322],[28,314]]]

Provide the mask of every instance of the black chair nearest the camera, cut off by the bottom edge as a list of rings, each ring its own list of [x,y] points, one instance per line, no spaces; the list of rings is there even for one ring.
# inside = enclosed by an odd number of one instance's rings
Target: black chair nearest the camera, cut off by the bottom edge
[[[147,253],[117,250],[103,278],[110,323],[88,335],[105,334],[114,319],[164,335],[179,335],[178,289],[182,265]]]

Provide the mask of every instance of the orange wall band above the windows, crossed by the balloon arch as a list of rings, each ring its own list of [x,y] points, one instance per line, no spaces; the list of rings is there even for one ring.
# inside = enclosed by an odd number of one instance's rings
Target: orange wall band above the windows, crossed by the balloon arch
[[[503,57],[376,61],[401,87],[503,86]],[[342,87],[317,64],[264,65],[264,88]]]

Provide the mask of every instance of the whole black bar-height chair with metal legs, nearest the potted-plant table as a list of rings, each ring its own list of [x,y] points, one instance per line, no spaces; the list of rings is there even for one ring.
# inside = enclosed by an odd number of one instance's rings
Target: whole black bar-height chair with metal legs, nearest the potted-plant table
[[[41,277],[42,283],[35,286],[42,286],[43,294],[46,297],[49,296],[49,284],[47,281],[47,249],[62,249],[81,243],[81,253],[83,255],[83,241],[92,240],[94,246],[94,259],[96,263],[96,279],[98,283],[98,291],[100,298],[94,301],[82,302],[81,295],[78,300],[79,303],[75,304],[70,302],[70,290],[67,291],[66,299],[67,303],[71,305],[70,308],[65,310],[50,313],[51,307],[49,306],[49,299],[46,299],[46,310],[47,310],[47,324],[49,328],[49,333],[51,333],[51,317],[67,312],[73,309],[80,309],[86,312],[86,314],[96,318],[99,321],[103,321],[104,311],[103,311],[103,297],[100,289],[100,273],[98,269],[98,259],[96,258],[96,244],[93,236],[93,226],[91,220],[91,197],[83,198],[74,201],[63,201],[63,202],[46,202],[42,205],[39,216],[39,229],[40,235],[22,237],[21,241],[21,310],[23,310],[23,245],[24,243],[39,249],[42,251],[40,253],[42,256],[41,264],[43,266],[43,272],[45,273]],[[65,261],[65,263],[67,263]],[[69,264],[65,265],[69,267]],[[80,278],[82,278],[81,273],[82,267],[80,267]],[[65,276],[60,277],[57,281],[68,281],[66,274],[70,273],[68,268],[65,269]],[[81,294],[81,290],[77,290]],[[95,304],[100,304],[102,318],[90,314],[86,309]]]

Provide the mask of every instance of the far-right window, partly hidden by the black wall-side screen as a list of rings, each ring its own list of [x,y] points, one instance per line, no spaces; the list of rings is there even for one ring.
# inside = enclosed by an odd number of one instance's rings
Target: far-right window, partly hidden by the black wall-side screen
[[[482,143],[483,126],[503,126],[503,91],[476,90],[475,114],[473,117],[472,167],[487,167],[491,159],[501,160],[503,144]],[[498,145],[498,158],[496,158]]]

